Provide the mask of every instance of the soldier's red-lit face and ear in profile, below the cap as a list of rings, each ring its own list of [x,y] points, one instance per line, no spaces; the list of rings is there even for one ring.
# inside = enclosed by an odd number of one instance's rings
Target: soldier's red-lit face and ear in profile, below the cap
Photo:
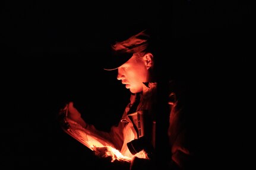
[[[143,90],[143,82],[150,78],[149,69],[153,66],[153,55],[145,54],[143,57],[133,55],[126,63],[119,66],[117,79],[122,81],[132,93]]]

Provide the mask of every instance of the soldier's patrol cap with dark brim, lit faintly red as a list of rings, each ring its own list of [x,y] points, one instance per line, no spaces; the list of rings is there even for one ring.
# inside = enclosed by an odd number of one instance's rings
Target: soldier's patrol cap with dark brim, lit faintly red
[[[105,63],[105,70],[115,70],[127,62],[134,53],[147,50],[150,44],[150,30],[144,29],[126,40],[111,44],[111,55]]]

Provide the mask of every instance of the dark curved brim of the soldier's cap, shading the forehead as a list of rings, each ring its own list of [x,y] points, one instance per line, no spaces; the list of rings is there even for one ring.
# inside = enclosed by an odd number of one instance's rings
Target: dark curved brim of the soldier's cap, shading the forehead
[[[132,53],[119,53],[110,57],[109,60],[106,61],[104,70],[115,70],[118,69],[121,65],[127,62],[132,57]]]

